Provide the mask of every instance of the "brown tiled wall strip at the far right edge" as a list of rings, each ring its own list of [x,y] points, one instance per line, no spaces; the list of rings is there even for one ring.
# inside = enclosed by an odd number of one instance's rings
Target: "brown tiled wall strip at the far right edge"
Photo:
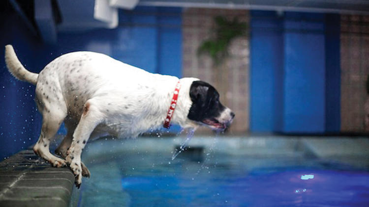
[[[341,131],[364,130],[369,16],[341,15]]]

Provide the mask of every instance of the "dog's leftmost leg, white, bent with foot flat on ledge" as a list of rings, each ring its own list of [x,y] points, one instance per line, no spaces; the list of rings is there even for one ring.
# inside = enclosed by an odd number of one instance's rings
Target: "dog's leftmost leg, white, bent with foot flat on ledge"
[[[57,133],[66,112],[62,110],[48,110],[43,108],[41,133],[37,143],[33,146],[33,152],[50,162],[54,167],[64,166],[65,160],[52,155],[49,151],[50,139]]]

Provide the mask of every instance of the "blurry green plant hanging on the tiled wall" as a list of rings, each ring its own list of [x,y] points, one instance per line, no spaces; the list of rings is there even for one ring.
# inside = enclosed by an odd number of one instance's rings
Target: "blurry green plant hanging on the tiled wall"
[[[225,17],[217,16],[214,19],[214,35],[199,46],[198,54],[208,53],[214,63],[220,63],[228,56],[228,47],[231,41],[240,36],[246,36],[246,23],[239,22],[235,17],[233,20],[227,20]]]

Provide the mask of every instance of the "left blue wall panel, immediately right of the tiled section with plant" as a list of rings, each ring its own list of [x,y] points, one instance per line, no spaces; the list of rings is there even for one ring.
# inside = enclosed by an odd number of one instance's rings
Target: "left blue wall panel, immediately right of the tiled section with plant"
[[[251,17],[250,130],[275,131],[283,124],[283,21],[272,11]]]

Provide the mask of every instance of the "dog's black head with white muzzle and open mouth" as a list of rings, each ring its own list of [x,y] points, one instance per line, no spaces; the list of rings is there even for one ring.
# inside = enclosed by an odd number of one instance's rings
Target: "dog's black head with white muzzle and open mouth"
[[[216,89],[204,81],[193,81],[189,90],[192,105],[187,118],[214,130],[224,130],[235,114],[219,101]]]

